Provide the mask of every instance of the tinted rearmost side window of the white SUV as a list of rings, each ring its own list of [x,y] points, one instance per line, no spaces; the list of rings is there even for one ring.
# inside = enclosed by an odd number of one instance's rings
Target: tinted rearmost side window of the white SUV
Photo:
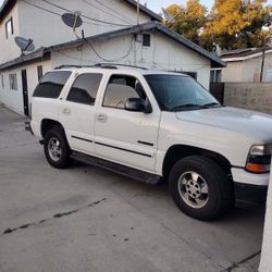
[[[71,74],[72,72],[69,71],[47,73],[40,81],[39,85],[36,87],[33,96],[44,98],[58,98]]]

